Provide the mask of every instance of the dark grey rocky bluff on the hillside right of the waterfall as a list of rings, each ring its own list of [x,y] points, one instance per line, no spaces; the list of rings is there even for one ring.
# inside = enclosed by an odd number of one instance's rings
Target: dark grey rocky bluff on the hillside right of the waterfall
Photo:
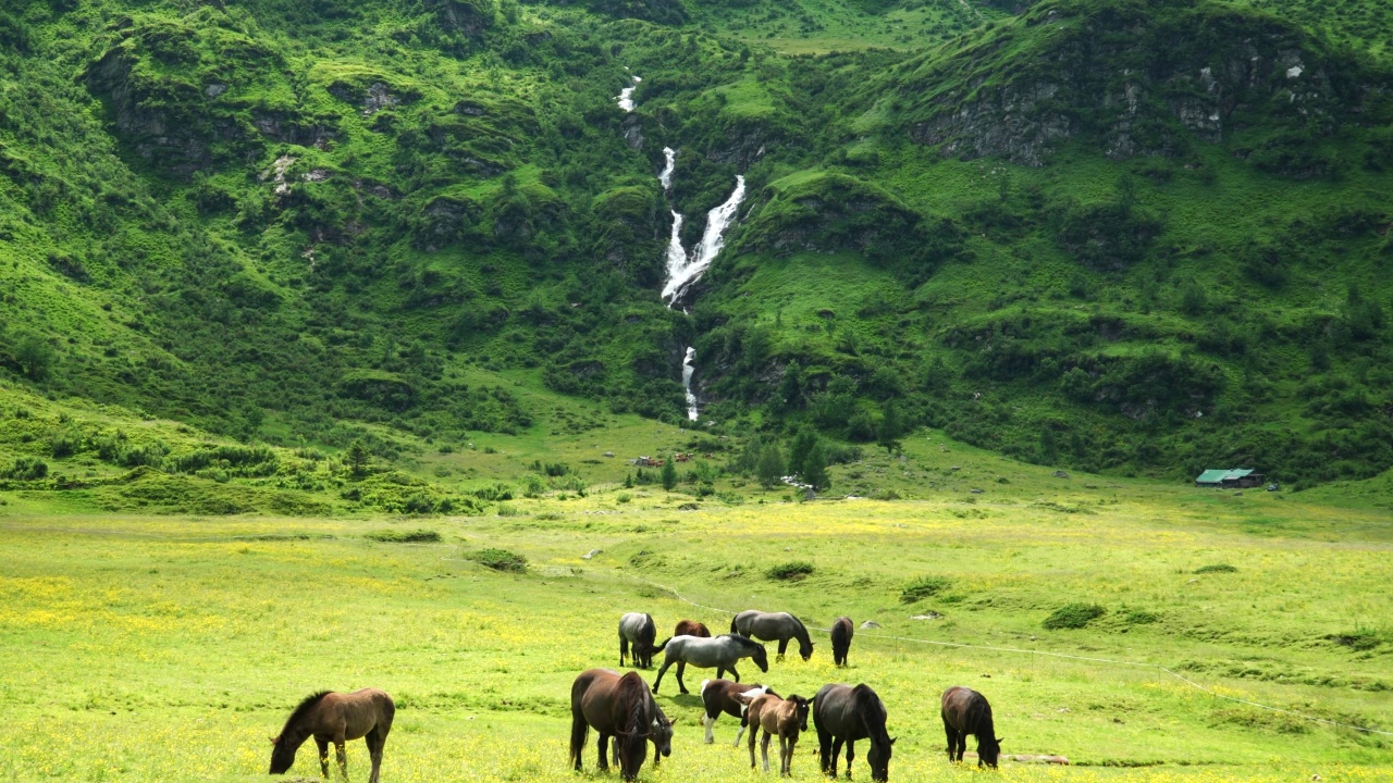
[[[1226,141],[1250,118],[1332,132],[1372,91],[1297,26],[1217,6],[1167,11],[1038,6],[1022,26],[903,85],[928,86],[910,135],[944,156],[1025,166],[1078,135],[1099,138],[1113,159],[1177,155]]]

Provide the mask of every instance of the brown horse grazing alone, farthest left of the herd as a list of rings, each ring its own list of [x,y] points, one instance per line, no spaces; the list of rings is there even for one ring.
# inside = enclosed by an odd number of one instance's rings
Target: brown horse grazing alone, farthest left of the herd
[[[391,731],[391,718],[396,713],[397,705],[391,697],[378,688],[364,688],[351,694],[333,691],[312,694],[291,711],[280,736],[270,738],[270,744],[274,745],[270,751],[270,773],[284,775],[290,765],[295,763],[295,751],[299,745],[313,737],[319,745],[319,769],[323,776],[329,777],[329,743],[333,743],[338,769],[344,780],[348,780],[348,754],[344,752],[344,743],[362,737],[368,743],[368,755],[372,757],[372,775],[368,783],[378,783],[382,747],[387,744],[387,733]]]

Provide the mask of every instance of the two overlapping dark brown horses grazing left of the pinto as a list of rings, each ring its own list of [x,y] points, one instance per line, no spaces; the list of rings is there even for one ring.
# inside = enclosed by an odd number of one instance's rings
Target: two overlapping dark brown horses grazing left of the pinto
[[[599,731],[598,766],[609,770],[610,751],[624,780],[638,777],[648,757],[648,743],[662,752],[664,741],[657,734],[671,737],[671,723],[666,720],[648,685],[637,672],[620,676],[612,669],[588,669],[571,684],[571,763],[581,770],[581,754],[591,727]],[[610,747],[610,737],[614,745]],[[671,752],[669,745],[669,752]]]

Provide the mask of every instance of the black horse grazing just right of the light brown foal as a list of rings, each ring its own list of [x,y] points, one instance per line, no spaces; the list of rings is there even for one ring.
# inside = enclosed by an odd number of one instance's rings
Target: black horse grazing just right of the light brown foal
[[[857,757],[857,740],[871,740],[872,780],[890,779],[890,752],[894,740],[885,730],[886,709],[880,697],[871,685],[827,684],[812,697],[812,724],[818,730],[818,754],[822,757],[822,773],[837,776],[837,755],[841,743],[847,744],[847,777],[851,777],[851,759]]]

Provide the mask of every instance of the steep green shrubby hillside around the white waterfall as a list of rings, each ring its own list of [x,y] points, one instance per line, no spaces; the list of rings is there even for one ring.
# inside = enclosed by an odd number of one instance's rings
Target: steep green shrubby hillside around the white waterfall
[[[1091,471],[1367,478],[1393,465],[1389,24],[1368,1],[11,3],[0,375],[313,474],[293,450],[683,424],[694,347],[712,439],[931,426]],[[724,249],[669,307],[671,210],[694,248],[737,176]],[[64,454],[68,422],[7,447],[139,467],[92,422]],[[185,471],[162,437],[160,475],[233,467]]]

